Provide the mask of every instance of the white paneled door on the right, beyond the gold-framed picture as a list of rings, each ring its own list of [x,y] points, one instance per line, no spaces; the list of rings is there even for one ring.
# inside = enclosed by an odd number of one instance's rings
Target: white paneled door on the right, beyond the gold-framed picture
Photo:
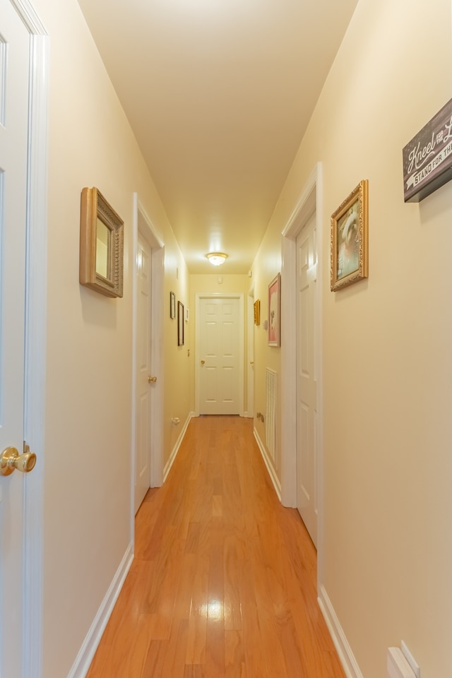
[[[317,541],[316,215],[297,237],[297,508]]]

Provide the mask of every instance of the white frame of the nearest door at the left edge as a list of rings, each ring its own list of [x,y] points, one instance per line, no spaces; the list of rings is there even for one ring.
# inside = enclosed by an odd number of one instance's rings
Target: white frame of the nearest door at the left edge
[[[30,33],[25,280],[24,435],[37,456],[25,481],[23,678],[42,676],[44,418],[47,316],[47,117],[49,37],[28,0],[11,0]]]

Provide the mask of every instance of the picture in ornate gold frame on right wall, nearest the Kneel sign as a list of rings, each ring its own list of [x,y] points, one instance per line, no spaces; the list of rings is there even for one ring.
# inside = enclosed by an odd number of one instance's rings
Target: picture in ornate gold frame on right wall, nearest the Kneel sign
[[[368,184],[359,182],[331,215],[331,291],[369,276]]]

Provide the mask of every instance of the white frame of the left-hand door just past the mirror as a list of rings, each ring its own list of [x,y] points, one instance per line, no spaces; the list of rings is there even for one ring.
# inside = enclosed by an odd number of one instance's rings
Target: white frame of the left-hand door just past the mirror
[[[160,487],[163,482],[163,283],[165,273],[165,243],[138,198],[133,194],[133,337],[132,337],[132,432],[131,432],[131,539],[133,542],[135,511],[135,422],[136,422],[136,333],[137,333],[137,253],[138,231],[152,249],[151,264],[151,329],[150,364],[157,382],[150,393],[150,487]]]

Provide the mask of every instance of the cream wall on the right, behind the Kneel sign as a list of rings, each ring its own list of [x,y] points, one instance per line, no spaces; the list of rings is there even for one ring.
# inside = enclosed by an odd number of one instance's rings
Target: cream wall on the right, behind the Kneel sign
[[[263,296],[321,161],[321,584],[365,678],[386,676],[386,648],[402,639],[423,678],[451,672],[452,184],[405,204],[402,165],[451,85],[449,0],[360,0],[253,266]],[[329,218],[361,179],[369,280],[332,293]],[[260,375],[279,364],[261,339]]]

